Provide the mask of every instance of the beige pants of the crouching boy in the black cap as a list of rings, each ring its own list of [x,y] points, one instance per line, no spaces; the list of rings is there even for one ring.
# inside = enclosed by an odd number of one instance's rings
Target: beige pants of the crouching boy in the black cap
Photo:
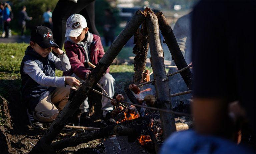
[[[69,92],[69,85],[63,88],[56,88],[49,96],[42,99],[36,105],[35,111],[33,112],[34,118],[42,122],[55,120],[52,117],[55,114],[59,114],[65,107],[68,102]]]

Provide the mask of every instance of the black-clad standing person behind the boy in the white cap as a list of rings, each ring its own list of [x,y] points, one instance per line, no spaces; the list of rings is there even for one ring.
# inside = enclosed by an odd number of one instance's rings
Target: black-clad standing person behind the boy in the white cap
[[[100,36],[95,26],[94,0],[68,0],[58,1],[52,14],[53,34],[58,36],[55,42],[62,49],[65,41],[66,22],[72,14],[81,14],[87,21],[88,28],[92,34]]]

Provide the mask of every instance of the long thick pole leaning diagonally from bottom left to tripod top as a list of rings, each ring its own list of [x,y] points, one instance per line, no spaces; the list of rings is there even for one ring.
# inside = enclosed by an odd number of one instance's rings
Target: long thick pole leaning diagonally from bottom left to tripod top
[[[30,153],[51,153],[49,145],[57,137],[60,130],[66,125],[69,117],[73,116],[75,111],[79,108],[81,103],[88,97],[92,89],[99,82],[101,77],[106,72],[107,68],[111,65],[115,57],[121,51],[126,42],[135,34],[138,27],[145,20],[145,15],[141,11],[137,11],[126,27],[117,36],[114,42],[111,44],[107,52],[100,59],[96,67],[90,73],[88,79],[79,87],[77,91],[72,94],[72,98],[69,98],[70,102],[60,112],[57,119],[46,130],[41,139],[32,148]]]

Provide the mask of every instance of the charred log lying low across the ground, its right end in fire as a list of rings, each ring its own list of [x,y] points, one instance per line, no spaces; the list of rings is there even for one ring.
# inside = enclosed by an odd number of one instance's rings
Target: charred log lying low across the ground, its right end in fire
[[[116,126],[123,126],[123,128],[130,128],[130,130],[133,130],[134,132],[136,132],[137,135],[146,135],[147,132],[145,131],[146,129],[143,128],[143,123],[144,121],[141,120],[141,118],[136,118],[133,120],[129,120],[129,121],[125,121],[119,124],[114,124],[114,125],[110,125],[107,127],[103,127],[100,128],[98,130],[93,130],[93,131],[86,131],[80,134],[76,134],[75,136],[72,137],[68,137],[65,139],[62,139],[60,141],[56,141],[54,143],[51,144],[51,148],[53,149],[53,151],[57,151],[66,147],[72,147],[72,146],[77,146],[81,143],[87,143],[89,141],[93,141],[96,139],[100,139],[100,138],[105,138],[108,136],[112,136],[112,135],[117,135],[120,132],[116,131],[116,129],[114,129]],[[129,131],[130,131],[129,130]],[[117,134],[115,134],[117,133]],[[119,134],[122,135],[122,134]],[[127,134],[124,134],[127,135]]]

